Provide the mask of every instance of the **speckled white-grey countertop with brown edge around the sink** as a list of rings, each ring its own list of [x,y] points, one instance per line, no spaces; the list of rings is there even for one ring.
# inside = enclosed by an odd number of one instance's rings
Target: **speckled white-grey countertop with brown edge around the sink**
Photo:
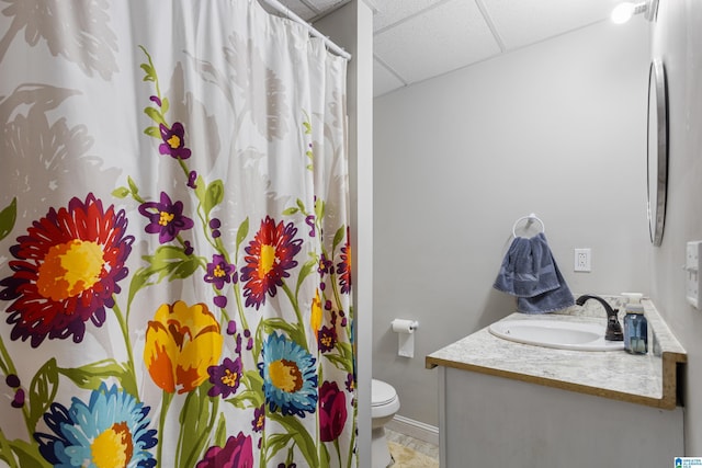
[[[616,300],[608,299],[613,307],[616,307]],[[644,299],[642,304],[649,329],[646,355],[632,355],[625,351],[569,351],[521,344],[495,336],[488,328],[484,328],[428,355],[426,367],[452,367],[673,409],[678,404],[678,367],[687,362],[687,353],[653,303]],[[603,311],[600,309],[596,316],[591,310],[576,306],[561,313],[512,313],[502,320],[577,320],[604,326]]]

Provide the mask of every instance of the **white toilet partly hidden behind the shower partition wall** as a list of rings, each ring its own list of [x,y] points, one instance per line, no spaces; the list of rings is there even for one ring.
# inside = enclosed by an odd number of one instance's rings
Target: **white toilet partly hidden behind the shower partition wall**
[[[392,385],[383,380],[371,380],[371,461],[373,468],[386,468],[393,463],[385,438],[385,424],[393,420],[399,410],[399,398]]]

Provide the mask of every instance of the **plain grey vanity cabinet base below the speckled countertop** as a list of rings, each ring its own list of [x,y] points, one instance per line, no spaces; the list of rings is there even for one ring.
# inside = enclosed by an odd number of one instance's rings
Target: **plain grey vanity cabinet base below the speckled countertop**
[[[664,410],[440,367],[440,466],[672,467],[682,408]]]

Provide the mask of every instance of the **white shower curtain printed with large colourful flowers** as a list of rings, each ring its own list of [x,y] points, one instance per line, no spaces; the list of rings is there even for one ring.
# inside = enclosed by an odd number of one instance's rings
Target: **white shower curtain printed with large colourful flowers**
[[[256,0],[0,11],[0,466],[355,466],[346,60]]]

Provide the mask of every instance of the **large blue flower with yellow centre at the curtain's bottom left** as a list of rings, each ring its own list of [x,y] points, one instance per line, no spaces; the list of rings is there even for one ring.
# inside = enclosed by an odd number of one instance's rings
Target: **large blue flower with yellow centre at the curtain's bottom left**
[[[39,453],[54,466],[155,467],[148,452],[157,443],[148,430],[150,408],[132,395],[101,384],[88,403],[73,397],[70,408],[52,403],[44,422],[53,432],[35,433]]]

